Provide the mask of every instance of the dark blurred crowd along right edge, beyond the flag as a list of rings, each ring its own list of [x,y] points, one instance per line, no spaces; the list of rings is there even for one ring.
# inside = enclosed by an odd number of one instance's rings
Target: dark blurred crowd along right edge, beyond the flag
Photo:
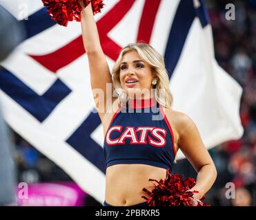
[[[244,135],[210,151],[218,170],[211,203],[217,206],[256,205],[256,1],[232,1],[235,20],[226,19],[230,1],[206,1],[213,28],[215,57],[243,88],[240,116]],[[226,198],[235,184],[235,199]],[[210,198],[209,198],[210,199]]]

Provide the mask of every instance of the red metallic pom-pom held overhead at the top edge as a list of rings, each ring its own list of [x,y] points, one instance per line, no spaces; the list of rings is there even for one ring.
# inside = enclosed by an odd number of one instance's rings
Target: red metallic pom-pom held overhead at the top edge
[[[59,25],[67,26],[68,21],[81,21],[81,5],[78,0],[42,0],[48,14]],[[102,0],[83,0],[84,5],[92,3],[92,12],[97,14],[104,7]]]

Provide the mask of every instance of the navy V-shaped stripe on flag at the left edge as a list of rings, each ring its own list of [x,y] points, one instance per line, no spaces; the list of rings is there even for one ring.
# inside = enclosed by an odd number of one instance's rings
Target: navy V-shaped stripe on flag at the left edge
[[[71,91],[61,80],[57,79],[43,96],[39,96],[4,68],[0,72],[0,88],[39,122],[43,122]]]

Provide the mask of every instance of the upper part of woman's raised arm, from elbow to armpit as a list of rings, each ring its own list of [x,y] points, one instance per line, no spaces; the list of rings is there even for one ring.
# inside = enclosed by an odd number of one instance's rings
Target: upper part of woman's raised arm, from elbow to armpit
[[[95,99],[96,109],[101,120],[106,113],[107,103],[112,104],[112,77],[102,50],[88,53],[88,62],[90,69],[90,85]],[[110,88],[107,94],[107,86]]]

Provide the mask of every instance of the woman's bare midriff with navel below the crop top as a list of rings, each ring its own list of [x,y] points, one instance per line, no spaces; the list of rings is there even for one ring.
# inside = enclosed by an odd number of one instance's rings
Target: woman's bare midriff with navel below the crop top
[[[146,164],[115,164],[106,169],[105,201],[111,206],[132,206],[146,201],[141,198],[154,185],[148,179],[165,179],[166,169]]]

